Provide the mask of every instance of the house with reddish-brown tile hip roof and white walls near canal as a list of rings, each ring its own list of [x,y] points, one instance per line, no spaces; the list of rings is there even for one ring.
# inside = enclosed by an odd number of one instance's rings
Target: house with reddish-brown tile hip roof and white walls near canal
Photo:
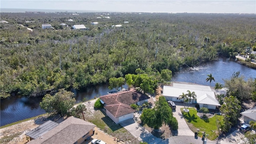
[[[141,106],[144,102],[147,102],[148,99],[149,97],[147,95],[137,92],[134,88],[100,96],[100,102],[104,104],[106,114],[116,124],[134,117],[136,110],[131,108],[130,104],[138,104]]]

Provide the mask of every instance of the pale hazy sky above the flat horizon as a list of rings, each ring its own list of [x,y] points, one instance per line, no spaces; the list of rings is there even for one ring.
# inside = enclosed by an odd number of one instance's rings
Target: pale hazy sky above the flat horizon
[[[256,14],[256,0],[1,0],[0,8]]]

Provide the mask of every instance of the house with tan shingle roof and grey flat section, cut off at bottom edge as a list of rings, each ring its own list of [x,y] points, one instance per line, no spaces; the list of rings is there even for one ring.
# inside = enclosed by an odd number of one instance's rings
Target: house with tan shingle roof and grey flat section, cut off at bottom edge
[[[32,138],[27,144],[81,144],[91,138],[95,126],[74,116],[60,124],[48,121],[26,133],[26,136]]]

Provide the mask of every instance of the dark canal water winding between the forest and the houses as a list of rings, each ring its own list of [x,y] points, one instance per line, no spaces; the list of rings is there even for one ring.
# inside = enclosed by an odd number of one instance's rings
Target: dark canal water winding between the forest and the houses
[[[208,77],[207,74],[212,74],[215,82],[212,81],[211,86],[215,86],[217,82],[224,84],[223,79],[229,79],[237,71],[240,71],[240,75],[243,75],[246,80],[248,78],[256,78],[255,69],[238,64],[229,58],[219,58],[218,61],[208,62],[201,66],[183,68],[173,75],[172,81],[192,82],[209,86],[210,83],[206,82],[206,78]],[[128,88],[128,86],[126,85],[124,88]],[[112,90],[108,89],[108,84],[101,84],[78,90],[74,93],[76,94],[77,102],[80,102],[83,98],[90,100],[106,95],[110,91]],[[28,98],[26,96],[16,96],[1,100],[0,126],[44,114],[45,111],[39,106],[41,100],[42,97]]]

